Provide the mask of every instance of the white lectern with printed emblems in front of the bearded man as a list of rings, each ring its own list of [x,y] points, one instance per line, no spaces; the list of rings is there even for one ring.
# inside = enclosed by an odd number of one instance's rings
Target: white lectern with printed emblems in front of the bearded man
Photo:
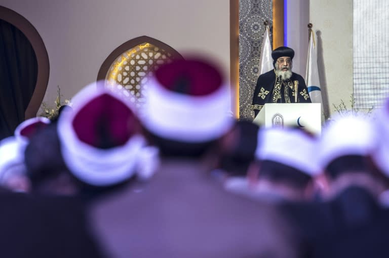
[[[253,123],[260,126],[299,126],[320,135],[322,114],[320,103],[266,103]]]

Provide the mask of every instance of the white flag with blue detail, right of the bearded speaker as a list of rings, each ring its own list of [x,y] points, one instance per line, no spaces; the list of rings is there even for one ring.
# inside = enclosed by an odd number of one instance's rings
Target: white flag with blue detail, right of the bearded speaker
[[[312,29],[309,30],[308,60],[306,62],[305,82],[312,103],[322,103],[322,92],[319,81],[318,48]]]

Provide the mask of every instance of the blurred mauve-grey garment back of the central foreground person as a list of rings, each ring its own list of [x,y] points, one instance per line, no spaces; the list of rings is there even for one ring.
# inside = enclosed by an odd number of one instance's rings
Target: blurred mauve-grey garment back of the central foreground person
[[[226,193],[193,162],[163,160],[144,191],[128,188],[99,200],[91,221],[102,246],[117,257],[258,257],[269,244],[274,252],[289,248],[274,207]]]

